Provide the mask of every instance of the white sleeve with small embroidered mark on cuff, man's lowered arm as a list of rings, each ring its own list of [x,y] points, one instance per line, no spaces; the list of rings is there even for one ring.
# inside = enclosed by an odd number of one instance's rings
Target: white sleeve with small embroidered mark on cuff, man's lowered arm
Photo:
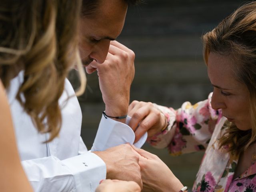
[[[35,192],[94,192],[106,179],[106,164],[96,154],[59,160],[54,156],[22,161]]]

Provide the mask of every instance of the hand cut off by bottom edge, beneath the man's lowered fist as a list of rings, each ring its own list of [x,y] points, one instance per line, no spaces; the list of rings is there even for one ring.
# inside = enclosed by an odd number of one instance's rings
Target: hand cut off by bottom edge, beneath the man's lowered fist
[[[140,192],[140,186],[134,181],[103,180],[95,192]]]

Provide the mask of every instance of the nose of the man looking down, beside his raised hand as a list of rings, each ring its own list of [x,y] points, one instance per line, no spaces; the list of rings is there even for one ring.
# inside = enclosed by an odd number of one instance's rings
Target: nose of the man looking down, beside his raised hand
[[[94,45],[94,48],[89,57],[96,60],[97,63],[103,63],[108,55],[109,46],[110,40],[100,40],[100,42]]]

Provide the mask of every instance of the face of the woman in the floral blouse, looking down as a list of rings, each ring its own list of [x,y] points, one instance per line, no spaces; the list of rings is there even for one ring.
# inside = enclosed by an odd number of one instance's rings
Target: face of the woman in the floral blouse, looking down
[[[233,61],[229,56],[210,52],[208,76],[214,86],[212,108],[222,109],[222,114],[228,121],[236,124],[240,130],[248,130],[252,128],[250,93],[245,84],[236,80],[233,68]]]

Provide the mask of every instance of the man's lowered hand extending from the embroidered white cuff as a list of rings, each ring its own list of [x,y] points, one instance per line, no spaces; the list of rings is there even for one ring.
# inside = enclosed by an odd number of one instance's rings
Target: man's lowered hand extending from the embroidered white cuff
[[[108,148],[105,151],[94,151],[107,166],[107,179],[134,181],[142,188],[139,154],[128,144]]]

